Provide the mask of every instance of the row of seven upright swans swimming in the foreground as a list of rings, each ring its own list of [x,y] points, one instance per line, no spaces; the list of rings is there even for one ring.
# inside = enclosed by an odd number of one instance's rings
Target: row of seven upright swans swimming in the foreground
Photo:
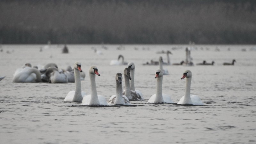
[[[130,62],[128,68],[124,69],[124,82],[125,91],[122,89],[122,74],[116,74],[116,94],[112,95],[108,102],[105,97],[97,94],[95,76],[100,76],[98,68],[92,66],[89,68],[89,77],[91,82],[91,94],[86,95],[85,92],[81,90],[81,79],[80,73],[82,72],[81,63],[75,62],[74,64],[74,74],[75,74],[75,91],[68,92],[65,97],[65,102],[82,102],[81,105],[131,105],[130,101],[144,100],[142,93],[139,90],[135,90],[134,86],[134,63]],[[162,82],[164,73],[162,70],[156,70],[156,94],[152,95],[148,100],[148,103],[173,103],[171,96],[162,93]],[[183,96],[178,104],[191,104],[191,105],[204,105],[200,98],[196,95],[190,95],[190,84],[192,73],[187,70],[184,72],[183,78],[186,80],[185,96]],[[131,82],[130,82],[131,81]]]

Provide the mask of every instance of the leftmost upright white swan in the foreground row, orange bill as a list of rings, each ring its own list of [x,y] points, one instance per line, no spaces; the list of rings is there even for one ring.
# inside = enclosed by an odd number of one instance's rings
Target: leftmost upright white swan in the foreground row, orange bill
[[[75,62],[74,73],[76,89],[75,91],[68,92],[67,96],[64,99],[65,102],[82,102],[84,95],[86,95],[86,93],[82,92],[81,90],[80,72],[82,72],[81,63]]]

